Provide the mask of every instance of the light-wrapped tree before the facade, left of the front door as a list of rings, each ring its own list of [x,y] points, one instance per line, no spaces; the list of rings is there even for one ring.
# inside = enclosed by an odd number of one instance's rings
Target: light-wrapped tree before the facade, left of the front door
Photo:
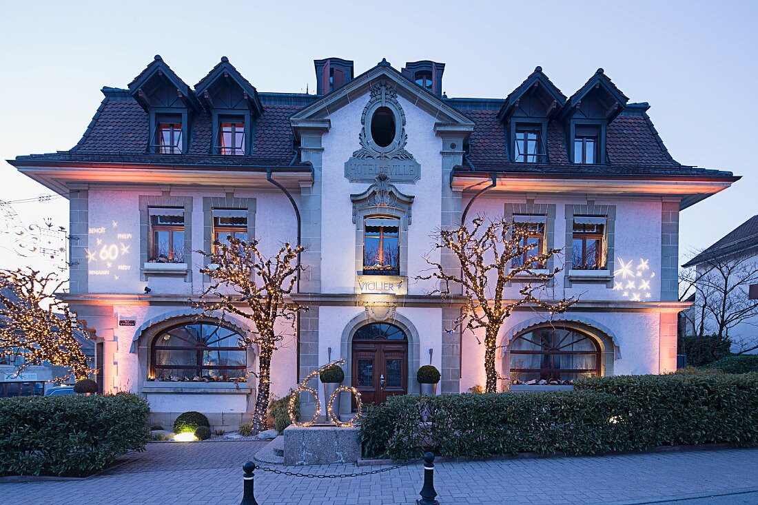
[[[206,315],[221,312],[245,318],[255,325],[255,333],[243,336],[241,347],[258,346],[258,395],[252,414],[252,431],[265,429],[271,390],[271,356],[283,335],[277,320],[294,326],[302,309],[289,300],[302,266],[297,257],[304,249],[285,243],[274,256],[264,256],[258,240],[246,242],[227,237],[215,240],[211,252],[198,251],[208,258],[201,269],[211,282],[196,306]]]

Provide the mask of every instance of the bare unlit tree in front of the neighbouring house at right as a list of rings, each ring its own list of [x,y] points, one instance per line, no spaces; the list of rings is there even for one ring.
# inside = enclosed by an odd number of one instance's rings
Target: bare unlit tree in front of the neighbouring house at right
[[[758,284],[758,261],[741,256],[709,257],[680,274],[680,300],[694,294],[684,312],[695,337],[716,335],[730,341],[733,352],[758,349],[758,300],[749,300],[751,284]],[[750,334],[735,333],[738,325],[756,327]]]

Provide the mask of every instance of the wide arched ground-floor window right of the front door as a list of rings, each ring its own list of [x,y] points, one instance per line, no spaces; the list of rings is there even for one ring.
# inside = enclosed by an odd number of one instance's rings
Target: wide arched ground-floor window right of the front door
[[[600,346],[573,328],[544,326],[516,336],[510,345],[511,379],[573,381],[600,375]]]

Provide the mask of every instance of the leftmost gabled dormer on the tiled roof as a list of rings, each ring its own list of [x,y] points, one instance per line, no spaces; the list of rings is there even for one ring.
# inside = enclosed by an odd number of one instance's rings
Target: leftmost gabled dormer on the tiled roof
[[[199,110],[195,93],[160,55],[129,83],[130,94],[149,118],[147,152],[182,154],[189,151],[189,122]]]

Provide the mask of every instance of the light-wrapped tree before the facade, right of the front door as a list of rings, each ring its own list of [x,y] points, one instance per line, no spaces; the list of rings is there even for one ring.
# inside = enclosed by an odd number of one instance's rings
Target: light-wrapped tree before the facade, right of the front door
[[[484,341],[487,393],[497,391],[497,379],[500,378],[495,367],[497,334],[506,318],[519,306],[543,309],[553,315],[565,312],[576,301],[573,297],[550,302],[538,298],[537,290],[561,271],[561,268],[547,273],[543,271],[547,260],[559,254],[561,249],[536,251],[538,243],[530,243],[529,236],[527,224],[515,224],[505,217],[487,223],[479,216],[470,227],[462,224],[454,229],[441,230],[434,244],[435,250],[452,252],[460,268],[443,267],[427,258],[435,271],[418,276],[419,279],[438,279],[440,285],[433,293],[440,293],[443,298],[456,294],[454,285],[462,287],[465,301],[456,326],[475,335],[476,331],[484,329],[484,339],[479,341]],[[518,290],[518,299],[507,299],[506,287],[514,278],[524,276],[531,281]]]

